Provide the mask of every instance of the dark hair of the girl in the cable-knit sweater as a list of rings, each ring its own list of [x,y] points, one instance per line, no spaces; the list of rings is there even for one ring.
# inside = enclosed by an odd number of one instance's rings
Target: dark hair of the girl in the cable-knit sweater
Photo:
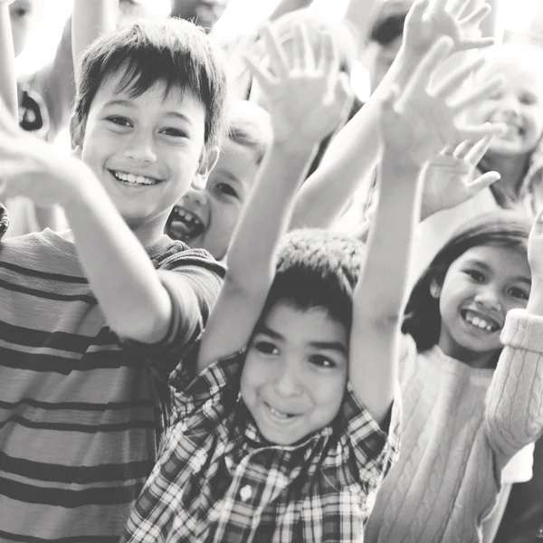
[[[402,331],[414,338],[419,352],[432,348],[438,342],[442,328],[439,300],[430,293],[432,281],[443,285],[452,262],[473,247],[507,247],[527,254],[530,227],[523,215],[500,210],[483,214],[466,224],[443,245],[414,285],[405,308]]]

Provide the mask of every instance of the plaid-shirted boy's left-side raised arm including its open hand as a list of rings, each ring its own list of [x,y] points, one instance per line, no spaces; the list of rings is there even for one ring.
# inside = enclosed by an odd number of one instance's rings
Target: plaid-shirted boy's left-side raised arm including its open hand
[[[269,26],[263,35],[276,77],[249,64],[268,99],[274,143],[228,250],[224,287],[202,337],[199,371],[247,345],[273,281],[275,254],[289,224],[294,195],[320,139],[348,101],[329,35],[322,38],[317,71],[311,67],[312,53],[300,29],[294,36],[298,57],[291,71]]]

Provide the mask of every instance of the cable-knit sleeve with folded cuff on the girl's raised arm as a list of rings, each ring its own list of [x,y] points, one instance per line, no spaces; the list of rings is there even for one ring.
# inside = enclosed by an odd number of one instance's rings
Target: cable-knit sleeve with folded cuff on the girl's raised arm
[[[498,467],[543,430],[543,317],[511,310],[486,397],[486,431]]]

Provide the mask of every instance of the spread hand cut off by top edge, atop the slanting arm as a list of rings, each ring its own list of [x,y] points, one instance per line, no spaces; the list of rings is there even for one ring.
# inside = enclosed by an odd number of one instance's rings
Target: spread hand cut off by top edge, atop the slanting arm
[[[415,0],[405,18],[405,51],[424,54],[443,36],[452,39],[451,52],[487,47],[494,40],[481,38],[479,25],[490,12],[485,0]]]

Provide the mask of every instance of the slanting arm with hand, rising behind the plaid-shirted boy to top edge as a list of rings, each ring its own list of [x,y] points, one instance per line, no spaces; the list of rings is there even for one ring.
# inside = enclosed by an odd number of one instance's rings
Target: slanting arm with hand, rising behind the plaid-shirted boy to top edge
[[[455,50],[491,43],[487,39],[465,38],[459,16],[446,11],[441,0],[435,0],[429,7],[424,0],[414,3],[405,20],[404,43],[395,62],[367,104],[332,140],[319,169],[300,189],[291,227],[329,226],[338,218],[350,195],[365,182],[371,183],[380,154],[379,104],[393,86],[405,87],[405,81],[424,53],[440,36],[452,34]],[[476,19],[474,24],[479,21]]]

